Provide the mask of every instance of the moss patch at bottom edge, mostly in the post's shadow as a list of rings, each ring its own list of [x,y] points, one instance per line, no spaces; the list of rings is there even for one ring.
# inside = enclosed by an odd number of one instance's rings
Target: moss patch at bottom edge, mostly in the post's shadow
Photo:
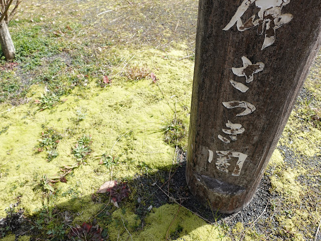
[[[224,237],[220,227],[206,224],[204,220],[193,215],[184,207],[178,209],[179,206],[176,204],[165,204],[152,209],[145,218],[142,230],[137,228],[139,225],[137,215],[118,209],[112,214],[113,221],[108,225],[108,234],[111,240],[117,240],[118,235],[126,239],[129,234],[124,227],[125,223],[133,240],[166,240],[167,236],[168,238],[179,236],[177,240],[186,241],[228,240]]]

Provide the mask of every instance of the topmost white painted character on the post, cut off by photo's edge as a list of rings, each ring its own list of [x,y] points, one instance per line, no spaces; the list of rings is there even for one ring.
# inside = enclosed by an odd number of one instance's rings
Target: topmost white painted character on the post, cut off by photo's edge
[[[258,16],[254,14],[243,24],[241,17],[253,3],[260,9]],[[281,14],[283,6],[289,3],[290,0],[244,0],[223,30],[229,30],[235,23],[239,31],[258,26],[257,33],[262,35],[264,32],[263,50],[274,43],[275,30],[292,20],[292,14]]]

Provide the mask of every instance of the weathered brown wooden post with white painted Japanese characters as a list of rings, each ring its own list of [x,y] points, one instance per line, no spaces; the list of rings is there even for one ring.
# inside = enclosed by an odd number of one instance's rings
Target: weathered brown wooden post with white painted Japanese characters
[[[320,31],[321,0],[200,0],[186,179],[214,210],[251,201]]]

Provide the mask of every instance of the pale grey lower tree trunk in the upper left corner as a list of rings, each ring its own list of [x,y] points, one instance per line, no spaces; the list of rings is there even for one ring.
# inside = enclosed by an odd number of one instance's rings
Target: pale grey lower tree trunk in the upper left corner
[[[13,60],[15,58],[16,50],[8,26],[4,20],[0,23],[0,44],[6,60]]]

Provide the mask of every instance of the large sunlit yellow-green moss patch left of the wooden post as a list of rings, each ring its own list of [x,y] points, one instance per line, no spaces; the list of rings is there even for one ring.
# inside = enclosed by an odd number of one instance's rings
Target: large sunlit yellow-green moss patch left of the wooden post
[[[175,58],[183,54],[169,52]],[[116,179],[140,172],[139,163],[145,163],[150,170],[170,167],[174,148],[162,140],[163,134],[158,130],[164,119],[173,116],[175,102],[189,105],[190,92],[188,95],[180,92],[186,91],[183,86],[191,87],[192,63],[168,62],[162,58],[162,52],[156,50],[142,53],[138,58],[148,59],[146,64],[151,68],[159,68],[159,72],[155,71],[159,87],[151,84],[150,79],[134,83],[115,81],[105,89],[89,83],[85,87],[76,87],[71,95],[61,97],[67,100],[53,109],[36,111],[37,105],[33,102],[44,91],[44,86],[35,85],[28,94],[31,98],[29,104],[11,109],[6,104],[1,105],[0,130],[9,128],[0,135],[0,142],[4,143],[0,146],[0,163],[3,163],[0,166],[0,189],[4,190],[0,197],[0,215],[5,214],[4,209],[15,203],[18,196],[21,196],[20,205],[26,213],[32,214],[41,208],[44,203],[39,186],[41,177],[44,174],[49,178],[59,175],[60,167],[76,162],[72,149],[83,134],[91,135],[93,152],[87,158],[87,165],[67,176],[67,183],[56,184],[58,191],[53,198],[54,205],[68,206],[70,203],[65,203],[71,200],[72,210],[87,208],[85,203],[90,202],[90,198],[83,197],[91,195],[93,186],[98,188],[111,177],[108,170],[99,177],[94,172],[99,167],[99,159],[95,156],[105,152],[119,157],[119,165],[112,173]],[[169,98],[174,94],[177,97]],[[180,105],[177,105],[178,110]],[[79,108],[86,109],[86,118],[76,122],[76,109]],[[187,112],[184,116],[185,120],[188,119]],[[45,152],[34,150],[46,128],[54,128],[63,136],[56,148],[59,155],[51,162],[46,162]]]

